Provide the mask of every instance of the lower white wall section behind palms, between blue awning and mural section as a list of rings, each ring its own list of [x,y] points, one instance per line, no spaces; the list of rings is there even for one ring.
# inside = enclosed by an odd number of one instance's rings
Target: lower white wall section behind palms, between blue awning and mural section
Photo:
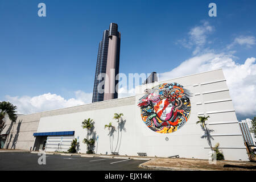
[[[110,154],[109,144],[109,130],[105,129],[104,126],[112,122],[117,128],[117,122],[113,119],[114,113],[123,113],[123,119],[126,120],[125,130],[122,132],[122,140],[120,147],[120,154],[137,155],[133,147],[129,147],[135,141],[134,135],[134,105],[112,107],[109,109],[100,109],[92,111],[84,111],[80,113],[56,115],[53,117],[44,117],[40,119],[38,132],[51,132],[51,131],[75,131],[75,138],[79,136],[80,139],[80,150],[79,152],[86,152],[86,144],[82,143],[82,140],[86,138],[87,130],[82,129],[82,121],[84,119],[91,118],[94,120],[94,127],[98,139],[98,154]],[[114,133],[114,143],[117,141],[117,132]],[[96,143],[97,145],[97,143]]]

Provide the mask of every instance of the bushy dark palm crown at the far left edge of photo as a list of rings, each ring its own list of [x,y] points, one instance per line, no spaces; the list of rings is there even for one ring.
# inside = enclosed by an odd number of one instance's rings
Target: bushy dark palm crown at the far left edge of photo
[[[5,128],[5,115],[8,114],[11,122],[16,122],[17,115],[16,110],[17,107],[11,104],[10,102],[2,101],[0,102],[0,133]]]

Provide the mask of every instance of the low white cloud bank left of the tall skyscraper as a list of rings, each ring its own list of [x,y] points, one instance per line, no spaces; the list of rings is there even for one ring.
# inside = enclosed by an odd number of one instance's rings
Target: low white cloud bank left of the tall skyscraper
[[[81,90],[75,92],[76,98],[65,98],[56,94],[46,93],[40,96],[6,96],[6,100],[17,106],[17,113],[31,114],[40,111],[61,109],[65,107],[88,104],[92,101],[92,93],[85,93]]]

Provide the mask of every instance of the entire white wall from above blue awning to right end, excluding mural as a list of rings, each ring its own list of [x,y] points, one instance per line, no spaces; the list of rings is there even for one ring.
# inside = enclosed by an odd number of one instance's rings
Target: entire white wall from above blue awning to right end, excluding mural
[[[42,117],[38,132],[74,130],[75,138],[80,137],[80,152],[86,152],[86,145],[81,143],[86,137],[86,130],[82,129],[81,123],[84,119],[92,118],[95,121],[96,135],[99,136],[98,148],[95,148],[95,151],[97,150],[98,154],[110,154],[109,131],[104,129],[104,126],[112,122],[117,127],[117,122],[113,119],[114,113],[123,113],[126,124],[125,131],[122,132],[120,155],[147,152],[148,156],[179,155],[183,158],[208,159],[209,144],[206,138],[202,138],[204,131],[200,125],[196,125],[197,116],[205,114],[210,115],[208,127],[214,130],[211,133],[212,144],[214,146],[217,142],[220,143],[220,150],[223,151],[225,159],[248,160],[232,99],[221,69],[164,82],[177,82],[194,94],[191,98],[191,115],[188,122],[174,133],[160,134],[148,129],[141,119],[141,111],[137,106],[139,98],[144,95],[144,89],[163,82],[138,86],[135,97],[98,102],[97,105],[90,104],[94,109]],[[168,141],[166,137],[169,138]],[[117,132],[114,133],[114,143],[116,141]]]

